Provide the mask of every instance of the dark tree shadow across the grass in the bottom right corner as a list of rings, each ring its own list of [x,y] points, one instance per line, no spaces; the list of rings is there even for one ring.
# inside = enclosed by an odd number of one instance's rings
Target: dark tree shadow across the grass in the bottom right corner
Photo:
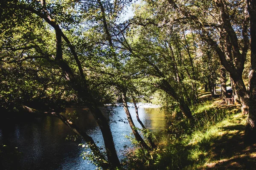
[[[201,150],[214,163],[201,169],[207,170],[256,170],[256,145],[244,145],[244,125],[222,127],[227,133],[212,140],[212,144],[201,143]],[[203,160],[204,158],[201,158]]]

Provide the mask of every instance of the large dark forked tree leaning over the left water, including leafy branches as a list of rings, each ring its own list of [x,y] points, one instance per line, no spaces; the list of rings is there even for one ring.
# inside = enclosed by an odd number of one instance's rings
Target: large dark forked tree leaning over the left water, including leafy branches
[[[66,4],[66,3],[63,3],[63,4]],[[35,20],[35,18],[38,19],[38,17],[41,19],[44,19],[44,21],[46,23],[48,23],[49,26],[52,27],[52,29],[54,29],[55,45],[56,46],[55,46],[55,49],[54,48],[53,49],[55,50],[55,54],[52,55],[52,54],[49,54],[48,51],[43,50],[45,48],[45,45],[44,45],[45,42],[44,42],[43,45],[41,46],[43,48],[41,48],[41,47],[37,48],[37,46],[34,45],[31,48],[28,48],[29,50],[32,50],[32,51],[26,51],[26,52],[22,51],[20,54],[20,58],[21,58],[21,60],[32,59],[32,61],[35,61],[35,62],[37,61],[36,60],[37,58],[46,59],[46,61],[48,62],[49,65],[53,64],[53,65],[58,66],[61,69],[64,77],[66,78],[68,85],[74,91],[76,91],[77,95],[90,108],[90,111],[92,112],[94,118],[96,119],[100,129],[102,130],[102,135],[103,135],[103,139],[104,139],[105,147],[106,147],[106,153],[108,156],[108,161],[111,164],[111,167],[120,167],[119,159],[116,155],[116,150],[115,150],[114,143],[113,143],[113,137],[111,134],[110,127],[108,125],[108,121],[105,118],[105,116],[103,116],[102,112],[97,107],[97,102],[93,99],[93,96],[90,94],[90,91],[88,89],[87,79],[84,76],[83,68],[81,67],[81,62],[79,60],[78,54],[76,53],[75,47],[72,45],[69,38],[66,36],[66,34],[64,34],[64,31],[62,31],[61,27],[57,23],[57,19],[61,19],[61,17],[60,17],[61,13],[58,13],[58,12],[60,12],[60,11],[58,11],[58,9],[65,8],[65,6],[61,6],[62,5],[61,3],[51,4],[48,6],[48,4],[46,4],[46,2],[44,0],[41,0],[40,3],[38,3],[38,1],[32,1],[32,2],[30,2],[30,1],[29,2],[26,2],[26,1],[17,1],[17,2],[16,1],[15,2],[14,1],[4,1],[3,3],[1,3],[1,5],[5,6],[5,10],[7,12],[8,12],[8,10],[12,11],[12,9],[14,7],[14,14],[15,14],[14,16],[15,16],[16,20],[19,21],[19,23],[18,23],[19,25],[14,25],[14,28],[20,28],[20,26],[23,26],[22,19],[19,20],[19,18],[17,18],[16,15],[25,14],[25,17],[28,20]],[[19,10],[16,10],[16,9],[19,9]],[[7,12],[5,14],[7,14]],[[64,16],[68,18],[67,15],[64,14]],[[4,18],[4,17],[7,17],[7,18]],[[53,19],[53,17],[55,17],[55,18]],[[64,17],[64,20],[67,19],[65,17]],[[6,19],[10,20],[10,17],[4,15],[2,20],[4,21]],[[16,20],[14,20],[14,22]],[[63,21],[63,20],[60,20],[59,22],[61,23],[61,21]],[[67,19],[67,21],[70,21],[70,20]],[[71,17],[71,22],[72,21],[73,20]],[[42,25],[44,26],[44,24],[45,23],[43,23]],[[5,26],[5,25],[3,25],[3,26]],[[45,28],[45,27],[43,27],[43,28]],[[21,35],[23,35],[22,32],[21,32]],[[12,43],[8,39],[4,39],[4,40],[6,40],[6,42],[4,42],[5,45],[8,43]],[[76,69],[71,68],[70,63],[65,61],[67,56],[70,57],[70,54],[64,53],[64,48],[63,48],[64,43],[62,42],[62,40],[64,40],[68,49],[70,50],[69,53],[71,54],[71,56],[74,57],[76,67],[78,68],[77,69],[78,72],[76,72]],[[25,39],[24,41],[25,42],[28,41],[28,43],[34,44],[34,42],[29,39]],[[27,43],[25,43],[25,45],[26,44]],[[24,48],[26,49],[27,47],[25,46]],[[35,56],[35,52],[33,53],[33,50],[35,50],[36,54],[39,55],[38,57]],[[34,55],[30,56],[30,54],[34,54]],[[67,56],[63,55],[63,54],[66,54]],[[29,57],[26,57],[26,56],[29,56]],[[53,59],[51,59],[50,57],[52,57]],[[87,140],[86,142],[88,142],[90,144],[90,141]],[[92,145],[91,149],[95,150],[95,148],[93,148],[93,145]],[[95,154],[96,153],[100,153],[100,152],[95,152]],[[108,166],[108,165],[103,165],[103,167],[106,167],[106,166]]]

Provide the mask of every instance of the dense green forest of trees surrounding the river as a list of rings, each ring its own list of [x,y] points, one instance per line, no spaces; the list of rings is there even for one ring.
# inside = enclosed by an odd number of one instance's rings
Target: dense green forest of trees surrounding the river
[[[133,10],[129,18],[128,8]],[[86,159],[102,169],[189,169],[195,162],[187,161],[184,141],[198,129],[203,133],[211,121],[217,125],[227,111],[234,112],[203,105],[230,99],[244,121],[241,139],[253,145],[253,16],[254,0],[1,0],[1,119],[56,117],[87,143],[93,154]],[[166,129],[168,142],[161,143],[145,127],[138,102],[166,107],[167,122],[175,116]],[[116,103],[122,103],[136,148],[121,162],[100,109]],[[74,104],[92,113],[103,150],[72,115],[62,113]],[[206,114],[197,114],[200,109]]]

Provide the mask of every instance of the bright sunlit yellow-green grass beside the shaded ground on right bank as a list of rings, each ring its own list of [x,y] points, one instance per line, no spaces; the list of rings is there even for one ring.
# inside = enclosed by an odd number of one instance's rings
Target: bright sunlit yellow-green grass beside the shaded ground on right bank
[[[232,111],[230,111],[232,112]],[[219,153],[223,153],[224,148],[216,148],[216,142],[227,142],[227,139],[232,139],[234,136],[240,137],[244,133],[244,129],[230,129],[225,127],[234,127],[241,125],[245,127],[246,118],[242,116],[241,113],[236,113],[230,116],[226,116],[222,121],[216,123],[215,125],[209,126],[205,131],[197,130],[195,131],[189,139],[188,145],[191,146],[188,159],[194,164],[188,165],[184,169],[187,170],[198,170],[205,169],[206,167],[211,167],[216,164],[216,162],[227,161],[225,157],[221,158],[216,156],[213,150],[218,150]],[[222,139],[223,136],[227,136]],[[237,136],[238,135],[238,136]],[[207,150],[207,151],[206,151]],[[220,157],[218,160],[215,157]],[[232,157],[231,157],[232,158]],[[235,164],[233,164],[235,165]]]

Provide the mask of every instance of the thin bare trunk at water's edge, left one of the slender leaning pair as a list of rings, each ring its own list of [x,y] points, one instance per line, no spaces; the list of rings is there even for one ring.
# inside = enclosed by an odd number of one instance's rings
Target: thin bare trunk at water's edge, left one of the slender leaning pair
[[[150,147],[148,147],[148,145],[145,143],[143,138],[140,136],[140,133],[137,131],[136,126],[134,125],[134,122],[131,118],[131,113],[128,110],[128,105],[127,105],[127,102],[126,102],[126,94],[125,93],[122,93],[122,102],[123,102],[123,105],[124,105],[125,114],[127,116],[129,125],[131,127],[131,131],[134,134],[135,139],[139,142],[140,147],[142,147],[143,149],[146,149],[146,150],[151,150]]]

